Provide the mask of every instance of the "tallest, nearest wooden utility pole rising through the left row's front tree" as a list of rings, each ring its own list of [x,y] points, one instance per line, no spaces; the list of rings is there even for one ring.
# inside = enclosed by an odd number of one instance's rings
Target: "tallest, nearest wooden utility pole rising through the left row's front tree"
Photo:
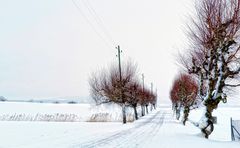
[[[120,50],[120,46],[118,45],[117,47],[118,50],[118,66],[119,66],[119,79],[120,79],[120,100],[122,101],[122,114],[123,114],[123,124],[125,124],[127,122],[127,117],[126,117],[126,109],[125,109],[125,101],[123,99],[123,92],[122,92],[122,69],[121,69],[121,50]]]

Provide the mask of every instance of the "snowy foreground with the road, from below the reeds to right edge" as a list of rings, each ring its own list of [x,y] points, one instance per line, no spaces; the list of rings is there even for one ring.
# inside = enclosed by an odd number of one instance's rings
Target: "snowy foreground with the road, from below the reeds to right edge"
[[[239,113],[239,110],[238,110]],[[221,126],[221,122],[219,123]],[[216,130],[220,130],[218,125]],[[217,132],[217,131],[216,131]],[[204,139],[199,129],[176,121],[170,108],[158,109],[138,121],[120,122],[29,122],[0,121],[0,148],[239,148],[223,129]],[[225,140],[218,140],[226,137]]]

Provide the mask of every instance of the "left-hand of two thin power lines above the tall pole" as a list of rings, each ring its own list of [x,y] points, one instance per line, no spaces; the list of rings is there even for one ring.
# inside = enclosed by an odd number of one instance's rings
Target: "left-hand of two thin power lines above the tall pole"
[[[80,14],[84,17],[84,19],[88,22],[88,24],[90,25],[90,27],[93,29],[93,31],[104,41],[104,43],[112,48],[112,45],[106,41],[106,39],[104,39],[104,37],[97,31],[97,29],[94,27],[94,25],[91,23],[90,19],[84,14],[83,10],[81,9],[80,5],[78,5],[74,0],[72,0],[72,3],[74,4],[74,6],[77,8],[77,10],[80,12]]]

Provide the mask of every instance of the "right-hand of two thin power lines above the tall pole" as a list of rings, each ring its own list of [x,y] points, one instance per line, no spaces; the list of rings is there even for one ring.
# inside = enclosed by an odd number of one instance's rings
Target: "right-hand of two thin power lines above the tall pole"
[[[115,45],[114,39],[109,33],[107,27],[105,26],[103,19],[97,14],[95,9],[92,7],[91,3],[88,0],[82,0],[88,11],[92,14],[93,18],[95,19],[96,23],[102,28],[103,33],[108,37],[109,41]]]

